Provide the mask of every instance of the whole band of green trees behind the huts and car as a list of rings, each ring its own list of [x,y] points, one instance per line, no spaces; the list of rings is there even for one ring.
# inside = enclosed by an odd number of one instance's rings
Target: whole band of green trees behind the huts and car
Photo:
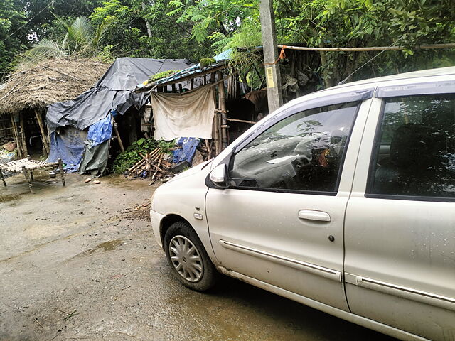
[[[275,0],[274,14],[280,44],[405,47],[382,53],[350,80],[454,65],[454,50],[417,48],[454,41],[454,0]],[[1,1],[0,72],[32,44],[33,58],[75,54],[105,61],[196,61],[230,48],[242,79],[259,86],[263,76],[255,50],[262,45],[259,0]],[[311,72],[335,85],[377,54],[314,53],[320,66]]]

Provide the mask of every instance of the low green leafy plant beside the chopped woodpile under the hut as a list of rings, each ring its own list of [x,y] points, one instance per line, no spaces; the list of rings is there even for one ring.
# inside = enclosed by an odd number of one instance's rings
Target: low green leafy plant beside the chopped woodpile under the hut
[[[122,174],[136,163],[141,161],[142,155],[150,153],[155,148],[161,148],[161,151],[168,153],[173,147],[173,141],[156,141],[154,139],[139,139],[134,141],[123,153],[119,153],[112,163],[112,172]]]

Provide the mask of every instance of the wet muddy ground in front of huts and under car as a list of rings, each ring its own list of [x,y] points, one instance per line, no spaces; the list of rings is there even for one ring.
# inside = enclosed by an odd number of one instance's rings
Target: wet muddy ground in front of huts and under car
[[[0,340],[391,340],[232,278],[190,291],[154,242],[154,186],[66,178],[0,187]]]

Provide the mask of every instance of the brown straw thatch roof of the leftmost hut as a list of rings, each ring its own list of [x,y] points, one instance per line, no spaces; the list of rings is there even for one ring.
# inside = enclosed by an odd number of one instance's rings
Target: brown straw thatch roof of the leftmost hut
[[[95,85],[108,67],[93,60],[60,58],[16,70],[0,89],[0,116],[73,99]]]

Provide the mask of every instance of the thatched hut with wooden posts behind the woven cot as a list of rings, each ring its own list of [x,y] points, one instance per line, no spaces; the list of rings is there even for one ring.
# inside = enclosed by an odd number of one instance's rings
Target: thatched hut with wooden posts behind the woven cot
[[[12,129],[3,130],[12,130],[6,138],[14,136],[18,156],[28,154],[31,139],[36,136],[41,136],[43,153],[48,154],[49,139],[43,119],[46,107],[89,90],[108,68],[109,65],[93,60],[55,58],[13,72],[0,87],[0,117],[9,116],[11,120]]]

